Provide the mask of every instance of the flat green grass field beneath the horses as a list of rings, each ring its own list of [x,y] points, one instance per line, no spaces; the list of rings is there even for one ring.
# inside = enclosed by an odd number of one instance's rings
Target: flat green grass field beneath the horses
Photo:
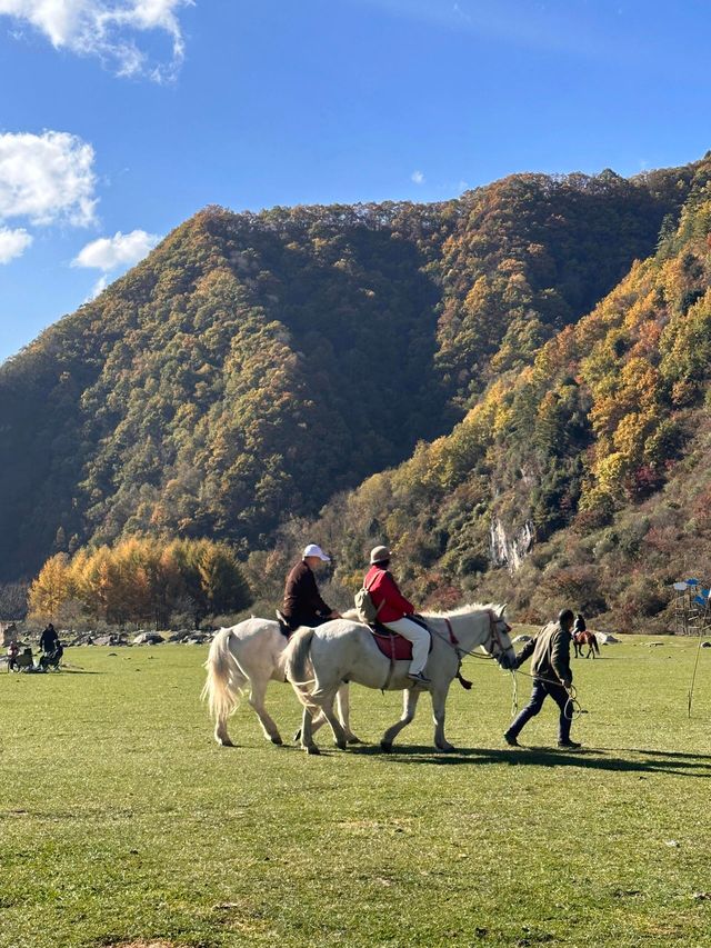
[[[521,736],[532,749],[508,749],[511,678],[472,660],[449,756],[427,698],[380,754],[400,696],[360,688],[369,746],[273,747],[244,702],[239,747],[220,748],[200,647],[3,671],[0,945],[711,945],[711,652],[689,720],[695,642],[648,641],[574,662],[579,755],[553,749],[552,705]],[[269,705],[290,736],[291,689],[272,685]]]

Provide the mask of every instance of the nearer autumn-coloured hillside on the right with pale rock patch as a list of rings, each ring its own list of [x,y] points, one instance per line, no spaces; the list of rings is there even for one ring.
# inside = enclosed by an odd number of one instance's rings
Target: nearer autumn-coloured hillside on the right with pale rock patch
[[[327,507],[311,532],[341,582],[377,539],[420,601],[477,593],[519,619],[568,603],[603,627],[669,628],[670,583],[711,576],[710,182],[707,160],[657,252],[451,435]]]

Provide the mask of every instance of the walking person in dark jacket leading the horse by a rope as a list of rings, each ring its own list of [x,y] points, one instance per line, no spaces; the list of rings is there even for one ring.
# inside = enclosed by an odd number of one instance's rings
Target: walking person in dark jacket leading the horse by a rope
[[[569,708],[569,695],[573,682],[573,673],[570,668],[570,641],[574,615],[570,609],[563,609],[557,622],[549,622],[541,631],[527,642],[518,656],[515,667],[520,666],[533,656],[531,661],[531,673],[533,676],[533,688],[531,700],[514,719],[507,730],[503,739],[511,747],[518,747],[518,737],[531,718],[534,718],[543,707],[545,698],[551,697],[560,709],[558,724],[558,746],[567,750],[579,750],[580,745],[570,739],[570,726],[572,716],[567,714]]]

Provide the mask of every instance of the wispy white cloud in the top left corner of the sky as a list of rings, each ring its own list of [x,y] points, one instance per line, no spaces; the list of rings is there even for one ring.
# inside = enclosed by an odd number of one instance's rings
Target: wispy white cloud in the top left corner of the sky
[[[31,23],[56,49],[96,56],[119,76],[170,81],[184,58],[178,10],[192,0],[0,0],[0,16]],[[137,34],[162,32],[171,41],[168,61],[152,62]]]

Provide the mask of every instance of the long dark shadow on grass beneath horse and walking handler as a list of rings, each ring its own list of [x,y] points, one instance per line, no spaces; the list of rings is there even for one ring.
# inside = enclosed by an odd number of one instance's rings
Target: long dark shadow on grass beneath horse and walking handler
[[[393,764],[438,764],[445,766],[508,764],[512,767],[580,767],[628,774],[673,774],[678,777],[711,776],[711,760],[701,754],[677,754],[622,748],[583,749],[573,754],[548,747],[519,749],[462,748],[450,754],[431,747],[398,746],[385,754],[380,747],[351,747],[350,754],[379,756]]]

